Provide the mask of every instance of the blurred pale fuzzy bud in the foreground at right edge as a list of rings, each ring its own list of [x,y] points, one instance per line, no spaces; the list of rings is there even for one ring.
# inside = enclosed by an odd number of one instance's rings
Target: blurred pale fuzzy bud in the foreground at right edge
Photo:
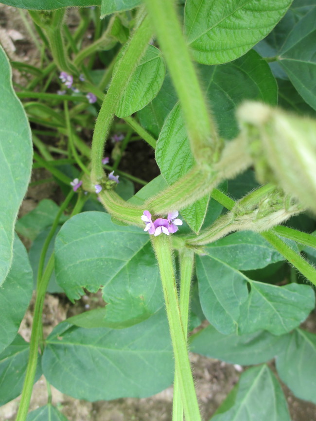
[[[237,118],[259,181],[279,184],[316,211],[316,121],[252,102]]]

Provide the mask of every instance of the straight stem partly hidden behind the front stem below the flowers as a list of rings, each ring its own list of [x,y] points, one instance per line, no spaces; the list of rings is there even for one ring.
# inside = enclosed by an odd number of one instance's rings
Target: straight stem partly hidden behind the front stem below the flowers
[[[183,324],[185,339],[188,333],[188,318],[190,305],[190,286],[193,275],[194,252],[192,249],[183,248],[179,253],[180,257],[180,315]],[[175,373],[174,399],[172,421],[183,421],[183,404],[179,384],[179,375]]]

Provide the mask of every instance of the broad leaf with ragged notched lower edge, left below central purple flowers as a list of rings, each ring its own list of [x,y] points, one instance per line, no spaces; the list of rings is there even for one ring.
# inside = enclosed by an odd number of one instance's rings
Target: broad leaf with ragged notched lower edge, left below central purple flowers
[[[163,306],[149,235],[113,224],[107,213],[84,212],[64,224],[55,241],[55,274],[72,301],[83,288],[96,292],[102,285],[110,327],[139,323]]]

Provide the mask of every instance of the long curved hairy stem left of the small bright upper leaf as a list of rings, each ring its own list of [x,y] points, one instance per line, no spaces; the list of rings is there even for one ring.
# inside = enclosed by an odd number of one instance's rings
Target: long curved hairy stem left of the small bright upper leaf
[[[130,80],[133,70],[145,53],[148,41],[152,35],[149,19],[146,17],[142,7],[139,9],[137,22],[138,25],[118,63],[117,71],[113,76],[95,124],[91,149],[91,180],[94,184],[98,184],[104,178],[101,160],[104,154],[105,139],[114,118],[114,110]]]

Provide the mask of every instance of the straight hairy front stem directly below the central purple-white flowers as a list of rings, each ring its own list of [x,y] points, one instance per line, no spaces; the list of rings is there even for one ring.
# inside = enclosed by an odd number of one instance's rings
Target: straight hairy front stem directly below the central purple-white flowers
[[[186,335],[179,309],[170,238],[166,235],[152,237],[165,298],[185,419],[186,421],[201,421],[188,356]]]

